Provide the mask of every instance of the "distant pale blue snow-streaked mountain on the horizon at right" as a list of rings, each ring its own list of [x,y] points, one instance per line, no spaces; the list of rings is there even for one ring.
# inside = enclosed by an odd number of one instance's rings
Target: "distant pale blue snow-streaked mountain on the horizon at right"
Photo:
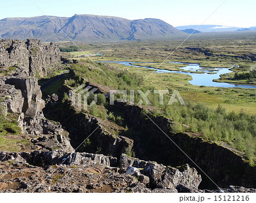
[[[185,29],[196,29],[199,25],[190,25],[190,26],[177,26],[178,30],[185,30]],[[230,27],[230,26],[220,26],[216,24],[204,24],[201,25],[197,30],[201,32],[230,32],[230,31],[237,31],[241,29],[241,27]]]

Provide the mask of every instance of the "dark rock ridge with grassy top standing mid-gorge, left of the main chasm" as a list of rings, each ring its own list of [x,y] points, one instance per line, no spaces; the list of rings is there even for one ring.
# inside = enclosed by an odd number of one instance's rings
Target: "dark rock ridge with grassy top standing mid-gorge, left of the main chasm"
[[[82,145],[78,150],[92,153],[102,153],[119,157],[122,153],[131,154],[133,148],[133,140],[125,136],[116,135],[112,132],[112,126],[115,123],[104,121],[101,118],[84,113],[75,113],[75,111],[67,107],[61,114],[66,129],[70,133],[71,144],[74,148],[86,138],[90,140],[86,146]],[[69,117],[67,117],[69,115]]]

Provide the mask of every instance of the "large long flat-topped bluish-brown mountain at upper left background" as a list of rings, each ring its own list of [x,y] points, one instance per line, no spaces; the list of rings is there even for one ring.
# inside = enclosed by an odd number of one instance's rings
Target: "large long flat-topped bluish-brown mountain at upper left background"
[[[51,19],[49,19],[51,18]],[[36,38],[43,41],[141,40],[170,38],[181,31],[160,19],[128,20],[114,16],[74,15],[0,20],[0,39]],[[63,30],[65,34],[59,29]]]

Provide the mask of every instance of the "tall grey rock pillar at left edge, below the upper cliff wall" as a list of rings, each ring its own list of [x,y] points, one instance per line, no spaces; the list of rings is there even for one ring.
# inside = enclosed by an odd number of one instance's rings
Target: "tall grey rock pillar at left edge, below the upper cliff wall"
[[[23,134],[43,134],[44,101],[36,78],[3,77],[1,96],[9,113],[19,114]],[[11,90],[11,91],[10,91]]]

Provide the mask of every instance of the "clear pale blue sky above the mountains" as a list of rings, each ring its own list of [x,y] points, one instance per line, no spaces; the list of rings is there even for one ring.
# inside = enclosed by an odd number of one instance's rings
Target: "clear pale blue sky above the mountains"
[[[220,6],[222,2],[224,0],[0,0],[0,19],[44,14],[65,17],[93,14],[131,20],[158,18],[172,26],[204,21],[203,24],[222,26],[256,26],[255,0],[226,0]]]

